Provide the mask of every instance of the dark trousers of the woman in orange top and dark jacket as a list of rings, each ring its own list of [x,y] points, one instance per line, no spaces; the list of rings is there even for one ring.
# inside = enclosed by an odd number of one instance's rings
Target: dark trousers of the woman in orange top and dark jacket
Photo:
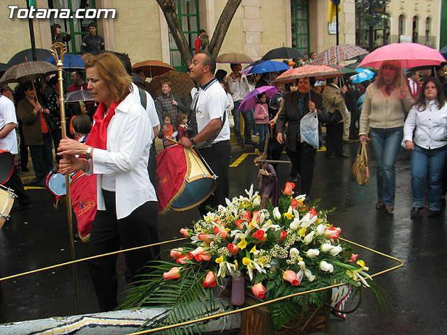
[[[43,144],[29,145],[31,161],[33,161],[34,174],[37,184],[45,186],[45,177],[53,168],[52,140],[49,133],[43,133]]]

